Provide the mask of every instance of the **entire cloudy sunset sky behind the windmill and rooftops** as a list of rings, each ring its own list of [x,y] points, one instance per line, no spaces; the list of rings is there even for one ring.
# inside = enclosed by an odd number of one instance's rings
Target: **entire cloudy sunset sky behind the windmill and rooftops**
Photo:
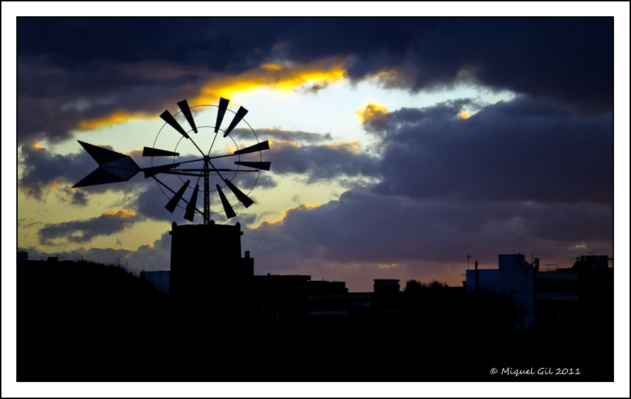
[[[460,285],[467,254],[613,255],[613,32],[613,18],[18,18],[18,248],[168,270],[183,209],[142,173],[71,188],[97,166],[77,140],[151,166],[161,112],[223,97],[271,146],[255,204],[230,220],[255,274],[370,291]]]

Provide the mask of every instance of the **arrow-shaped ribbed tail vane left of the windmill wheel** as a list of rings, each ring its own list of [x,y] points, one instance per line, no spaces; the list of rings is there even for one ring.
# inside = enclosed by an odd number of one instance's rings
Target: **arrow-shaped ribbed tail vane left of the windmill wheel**
[[[79,141],[79,140],[77,140]],[[141,169],[134,160],[125,154],[79,141],[88,154],[98,163],[98,168],[72,187],[87,187],[108,183],[126,182]]]

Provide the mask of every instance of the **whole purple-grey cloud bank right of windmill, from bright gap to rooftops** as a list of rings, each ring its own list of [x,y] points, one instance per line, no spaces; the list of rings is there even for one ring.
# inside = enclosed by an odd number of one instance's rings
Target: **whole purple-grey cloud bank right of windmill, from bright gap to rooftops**
[[[498,253],[521,252],[566,267],[579,252],[611,254],[610,115],[576,117],[518,96],[458,116],[471,105],[360,110],[382,149],[370,170],[377,183],[247,231],[257,270],[302,270],[369,289],[367,271],[459,284],[467,253],[489,266]]]

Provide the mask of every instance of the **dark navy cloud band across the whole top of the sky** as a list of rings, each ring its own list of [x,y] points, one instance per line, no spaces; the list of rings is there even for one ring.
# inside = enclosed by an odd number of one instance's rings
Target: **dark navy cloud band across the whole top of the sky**
[[[18,18],[17,30],[20,143],[117,110],[155,115],[217,74],[327,57],[412,91],[469,81],[613,105],[613,18]]]

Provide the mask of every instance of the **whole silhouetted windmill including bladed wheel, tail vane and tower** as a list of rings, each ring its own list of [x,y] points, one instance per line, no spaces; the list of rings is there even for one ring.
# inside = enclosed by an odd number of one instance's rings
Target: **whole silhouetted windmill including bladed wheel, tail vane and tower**
[[[234,112],[228,103],[221,98],[219,105],[189,107],[182,100],[176,114],[162,112],[164,125],[153,145],[142,151],[142,156],[151,160],[147,168],[140,168],[128,155],[79,141],[98,168],[73,187],[123,182],[142,171],[144,178],[155,180],[167,198],[165,208],[169,212],[183,209],[183,219],[191,222],[197,214],[203,217],[202,224],[174,222],[170,232],[171,296],[180,303],[208,303],[229,291],[232,284],[254,274],[249,252],[241,256],[241,225],[215,224],[211,217],[224,213],[232,219],[237,216],[234,208],[239,204],[246,208],[254,204],[249,195],[261,170],[270,169],[262,155],[269,144],[258,141],[254,129],[244,120],[248,111],[240,107]],[[195,122],[193,111],[203,117],[203,123]],[[234,117],[222,129],[227,112]],[[185,122],[190,129],[182,126]],[[241,128],[237,129],[239,124]],[[164,149],[169,145],[171,149]],[[224,192],[226,187],[232,195]],[[203,211],[198,209],[200,191]],[[212,200],[217,207],[220,204],[219,211],[211,211]]]

